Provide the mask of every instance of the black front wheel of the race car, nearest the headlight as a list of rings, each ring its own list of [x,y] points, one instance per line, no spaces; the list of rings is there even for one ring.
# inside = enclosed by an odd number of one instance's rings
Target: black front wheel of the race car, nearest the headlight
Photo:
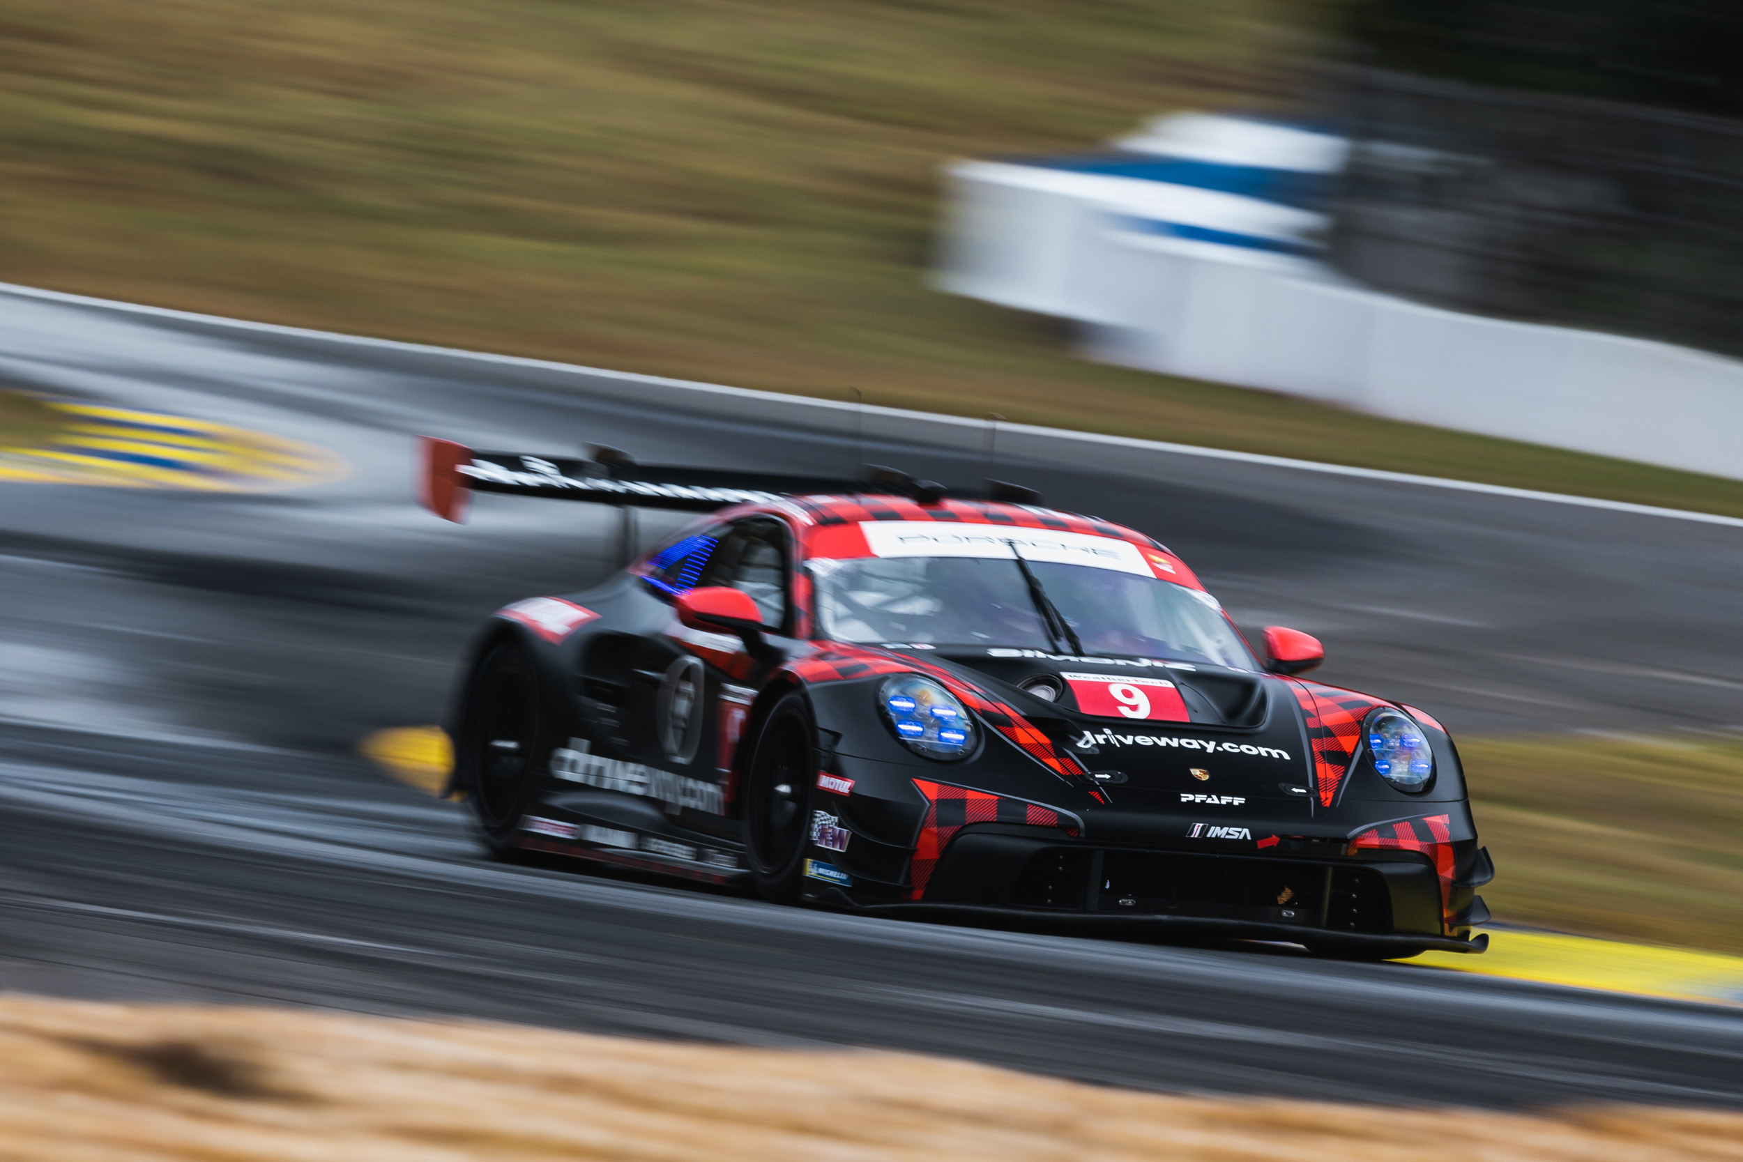
[[[798,899],[810,840],[810,786],[817,777],[817,728],[805,695],[784,695],[769,711],[744,780],[744,855],[756,894],[772,904]]]

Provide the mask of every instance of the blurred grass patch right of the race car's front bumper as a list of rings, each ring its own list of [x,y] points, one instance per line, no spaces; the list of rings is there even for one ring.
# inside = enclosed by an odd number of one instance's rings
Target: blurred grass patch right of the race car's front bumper
[[[1466,739],[1495,920],[1743,953],[1743,742]]]

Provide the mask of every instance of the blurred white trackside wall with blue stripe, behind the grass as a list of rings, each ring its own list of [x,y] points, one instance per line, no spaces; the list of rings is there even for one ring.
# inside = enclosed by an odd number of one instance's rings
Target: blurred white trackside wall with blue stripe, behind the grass
[[[1743,362],[1353,286],[1293,206],[1046,166],[946,178],[939,286],[1075,319],[1093,359],[1743,479]]]

